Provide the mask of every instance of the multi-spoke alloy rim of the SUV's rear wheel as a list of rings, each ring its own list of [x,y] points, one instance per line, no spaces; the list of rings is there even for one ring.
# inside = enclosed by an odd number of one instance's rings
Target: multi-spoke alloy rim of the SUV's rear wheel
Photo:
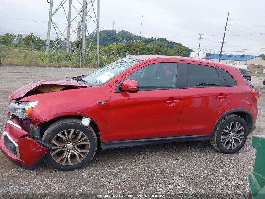
[[[235,149],[244,138],[244,127],[239,122],[231,122],[223,130],[221,141],[226,149]]]

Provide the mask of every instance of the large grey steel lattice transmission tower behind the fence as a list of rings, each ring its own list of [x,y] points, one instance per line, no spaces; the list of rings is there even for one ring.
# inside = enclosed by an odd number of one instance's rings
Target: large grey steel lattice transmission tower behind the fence
[[[78,2],[81,5],[81,10],[78,11],[77,8],[73,5],[73,1]],[[80,2],[81,1],[81,2]],[[82,2],[83,1],[83,2]],[[97,33],[97,54],[99,55],[99,1],[100,0],[61,0],[59,2],[59,5],[56,7],[56,9],[53,11],[53,0],[50,0],[50,2],[47,0],[48,3],[50,3],[50,11],[49,11],[49,20],[48,20],[48,31],[47,31],[47,41],[46,41],[46,55],[49,53],[53,53],[63,42],[66,42],[66,53],[70,52],[70,49],[72,51],[75,51],[75,48],[71,46],[70,42],[70,36],[74,38],[74,35],[76,35],[77,39],[82,38],[82,56],[85,53],[85,50],[88,52],[92,50],[95,52],[94,46],[93,46],[93,39]],[[67,10],[67,3],[68,2],[68,12]],[[97,15],[95,12],[95,4],[97,4]],[[72,8],[74,8],[74,12],[72,11]],[[65,24],[66,27],[61,28],[58,24],[62,25],[64,24],[62,21],[60,23],[56,23],[54,21],[54,18],[56,19],[56,13],[58,12],[64,12],[65,14]],[[78,23],[76,27],[72,25],[72,22],[77,18],[81,17],[82,21],[81,23]],[[89,18],[89,21],[91,21],[90,27],[93,27],[91,31],[88,31],[87,28],[87,18]],[[59,19],[59,17],[58,17]],[[56,35],[59,38],[62,38],[62,42],[60,40],[57,40],[54,47],[50,50],[50,31],[51,31],[51,25],[53,26]],[[86,40],[88,40],[86,45]]]

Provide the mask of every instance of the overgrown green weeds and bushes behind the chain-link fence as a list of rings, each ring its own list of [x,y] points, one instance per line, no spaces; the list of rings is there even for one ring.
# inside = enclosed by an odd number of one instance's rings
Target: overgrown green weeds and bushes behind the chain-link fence
[[[92,49],[82,56],[80,48],[66,53],[66,47],[49,46],[48,55],[45,54],[46,45],[34,42],[17,42],[0,40],[0,66],[42,66],[42,67],[78,67],[100,68],[120,58],[127,57],[125,53],[104,52]]]

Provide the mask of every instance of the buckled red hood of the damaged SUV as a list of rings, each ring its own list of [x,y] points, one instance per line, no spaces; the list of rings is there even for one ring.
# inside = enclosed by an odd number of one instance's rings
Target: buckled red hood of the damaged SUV
[[[29,84],[26,84],[25,86],[22,86],[21,88],[14,91],[11,95],[11,100],[19,99],[21,97],[25,97],[26,94],[35,91],[43,86],[50,86],[52,88],[56,88],[54,91],[59,91],[63,89],[63,87],[72,87],[72,88],[85,88],[90,87],[88,85],[82,84],[81,82],[77,82],[73,80],[73,78],[63,78],[63,79],[54,79],[54,80],[39,80],[34,81]],[[49,87],[49,89],[50,89]],[[61,87],[61,89],[60,89]],[[53,90],[49,90],[53,91]],[[47,92],[47,91],[46,91]]]

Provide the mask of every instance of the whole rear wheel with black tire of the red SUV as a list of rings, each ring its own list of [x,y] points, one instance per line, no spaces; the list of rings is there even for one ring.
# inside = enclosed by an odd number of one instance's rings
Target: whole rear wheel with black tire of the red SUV
[[[218,124],[210,143],[217,151],[232,154],[244,146],[247,135],[246,121],[237,115],[230,114]]]

